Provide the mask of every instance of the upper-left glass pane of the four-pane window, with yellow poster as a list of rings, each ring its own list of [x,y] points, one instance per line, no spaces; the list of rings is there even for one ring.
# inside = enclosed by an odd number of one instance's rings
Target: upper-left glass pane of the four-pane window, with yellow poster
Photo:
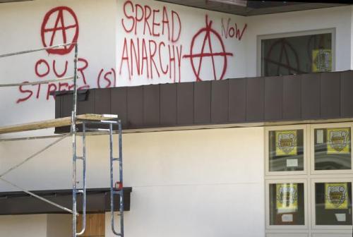
[[[304,130],[269,132],[269,171],[304,170]]]

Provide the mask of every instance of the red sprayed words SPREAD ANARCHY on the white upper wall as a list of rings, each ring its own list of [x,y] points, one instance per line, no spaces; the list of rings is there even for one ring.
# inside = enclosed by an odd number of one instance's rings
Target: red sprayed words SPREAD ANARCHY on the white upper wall
[[[157,9],[133,4],[132,1],[126,1],[123,10],[121,27],[133,37],[124,38],[119,75],[125,68],[129,80],[133,75],[149,79],[169,75],[173,82],[180,82],[183,46],[177,44],[181,35],[179,13],[169,11],[165,6]]]

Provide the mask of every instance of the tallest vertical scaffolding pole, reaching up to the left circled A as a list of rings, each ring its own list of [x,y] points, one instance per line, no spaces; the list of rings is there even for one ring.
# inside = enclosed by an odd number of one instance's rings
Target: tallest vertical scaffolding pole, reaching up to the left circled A
[[[77,63],[78,63],[78,44],[75,44],[75,58],[73,59],[73,102],[71,113],[71,135],[72,135],[72,236],[76,237],[77,229],[77,209],[76,209],[76,111],[77,111]]]

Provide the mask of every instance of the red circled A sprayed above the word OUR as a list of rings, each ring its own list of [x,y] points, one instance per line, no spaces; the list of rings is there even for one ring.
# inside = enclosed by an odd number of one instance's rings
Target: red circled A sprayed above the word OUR
[[[64,18],[64,15],[66,18]],[[50,25],[49,22],[52,22],[53,18],[54,25]],[[73,23],[66,25],[65,21],[69,20]],[[69,31],[73,31],[73,34],[70,34]],[[70,35],[71,38],[68,38]],[[60,44],[77,42],[78,39],[78,20],[76,14],[71,8],[67,6],[59,6],[50,10],[44,16],[44,20],[41,28],[42,44],[44,47],[49,47],[54,45],[54,39],[58,39]],[[68,54],[75,47],[74,44],[59,47],[56,49],[47,49],[49,54]]]

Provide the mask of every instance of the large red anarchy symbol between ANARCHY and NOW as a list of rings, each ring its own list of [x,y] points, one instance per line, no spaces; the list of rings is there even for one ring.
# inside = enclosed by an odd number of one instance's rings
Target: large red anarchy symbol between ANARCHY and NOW
[[[227,56],[233,56],[232,53],[226,52],[225,51],[225,44],[223,43],[222,37],[220,34],[213,30],[212,28],[212,20],[208,22],[208,16],[206,15],[206,26],[205,28],[201,28],[201,30],[198,30],[196,32],[196,35],[193,36],[193,39],[191,41],[191,47],[190,47],[190,54],[189,55],[184,55],[184,58],[189,58],[191,62],[191,67],[193,68],[193,73],[196,75],[196,81],[201,81],[201,67],[203,66],[203,59],[210,57],[212,60],[212,68],[211,71],[213,71],[213,77],[214,80],[222,80],[223,77],[225,76],[225,72],[227,71]],[[204,35],[204,36],[203,36]],[[215,37],[212,37],[214,35]],[[201,47],[201,52],[199,53],[194,53],[193,49],[195,48],[195,42],[198,40],[199,37],[203,36],[203,44]],[[213,39],[218,40],[218,44],[220,44],[221,50],[219,52],[214,52],[213,51],[213,46],[217,43],[213,42]],[[205,50],[206,44],[208,44],[208,51]],[[221,73],[217,73],[216,66],[215,66],[215,60],[223,59],[223,67]],[[198,62],[197,62],[198,61]],[[218,61],[218,60],[217,60]],[[196,67],[196,64],[198,63],[198,66]],[[204,67],[207,69],[210,69],[209,67]],[[206,73],[208,75],[208,73]]]

